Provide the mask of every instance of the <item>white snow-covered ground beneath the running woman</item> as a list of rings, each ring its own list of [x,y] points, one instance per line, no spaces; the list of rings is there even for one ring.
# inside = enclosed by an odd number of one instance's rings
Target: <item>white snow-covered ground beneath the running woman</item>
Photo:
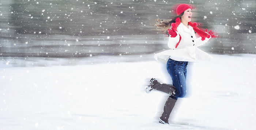
[[[189,63],[187,96],[158,123],[172,83],[153,54],[0,62],[1,130],[255,130],[256,55]],[[43,60],[44,59],[44,60]]]

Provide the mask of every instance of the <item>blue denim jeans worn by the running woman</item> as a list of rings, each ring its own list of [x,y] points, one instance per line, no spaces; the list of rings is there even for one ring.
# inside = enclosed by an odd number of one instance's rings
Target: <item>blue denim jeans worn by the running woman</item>
[[[170,96],[173,99],[184,98],[187,93],[187,61],[175,61],[169,58],[166,69],[170,74],[173,86],[176,88],[175,95]]]

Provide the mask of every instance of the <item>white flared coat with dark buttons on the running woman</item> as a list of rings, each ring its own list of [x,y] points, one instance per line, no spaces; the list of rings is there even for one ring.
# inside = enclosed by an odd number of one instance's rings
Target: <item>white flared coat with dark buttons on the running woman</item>
[[[171,58],[172,60],[176,61],[196,62],[199,60],[212,59],[212,56],[197,48],[198,46],[206,43],[211,37],[205,38],[205,40],[202,41],[201,37],[196,38],[193,27],[188,25],[187,28],[182,23],[180,23],[177,27],[176,33],[177,36],[174,38],[169,36],[168,47],[170,49],[155,54],[155,60],[167,62],[167,60]],[[177,48],[175,48],[176,44],[180,40],[179,34],[181,35],[181,41]]]

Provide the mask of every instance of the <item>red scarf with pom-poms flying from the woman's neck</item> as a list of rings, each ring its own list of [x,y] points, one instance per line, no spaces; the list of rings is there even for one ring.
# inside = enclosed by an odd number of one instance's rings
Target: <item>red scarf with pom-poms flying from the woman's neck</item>
[[[180,21],[180,18],[176,18],[175,21],[176,21],[175,23],[172,23],[172,27],[173,27],[174,31],[177,31],[177,27],[180,25],[181,21]],[[188,25],[190,25],[191,27],[193,27],[193,30],[194,30],[200,37],[202,37],[202,39],[201,39],[202,41],[204,41],[205,38],[210,38],[210,37],[211,37],[210,34],[208,34],[207,32],[205,32],[205,31],[199,29],[198,27],[196,27],[196,26],[197,26],[197,23],[196,23],[196,22],[194,22],[194,23],[188,22]],[[181,41],[181,36],[180,36],[180,41]],[[180,41],[176,44],[176,47],[175,47],[175,48],[178,47]]]

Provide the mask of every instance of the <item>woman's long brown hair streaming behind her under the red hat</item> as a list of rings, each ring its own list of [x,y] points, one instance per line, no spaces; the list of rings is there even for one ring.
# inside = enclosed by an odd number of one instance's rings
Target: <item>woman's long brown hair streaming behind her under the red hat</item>
[[[169,35],[168,29],[171,28],[171,24],[175,23],[176,18],[180,18],[181,19],[181,16],[183,16],[183,15],[184,15],[184,12],[182,12],[178,16],[175,16],[172,19],[168,19],[168,20],[157,19],[157,22],[155,23],[155,26],[157,26],[157,30],[163,31],[163,33]]]

